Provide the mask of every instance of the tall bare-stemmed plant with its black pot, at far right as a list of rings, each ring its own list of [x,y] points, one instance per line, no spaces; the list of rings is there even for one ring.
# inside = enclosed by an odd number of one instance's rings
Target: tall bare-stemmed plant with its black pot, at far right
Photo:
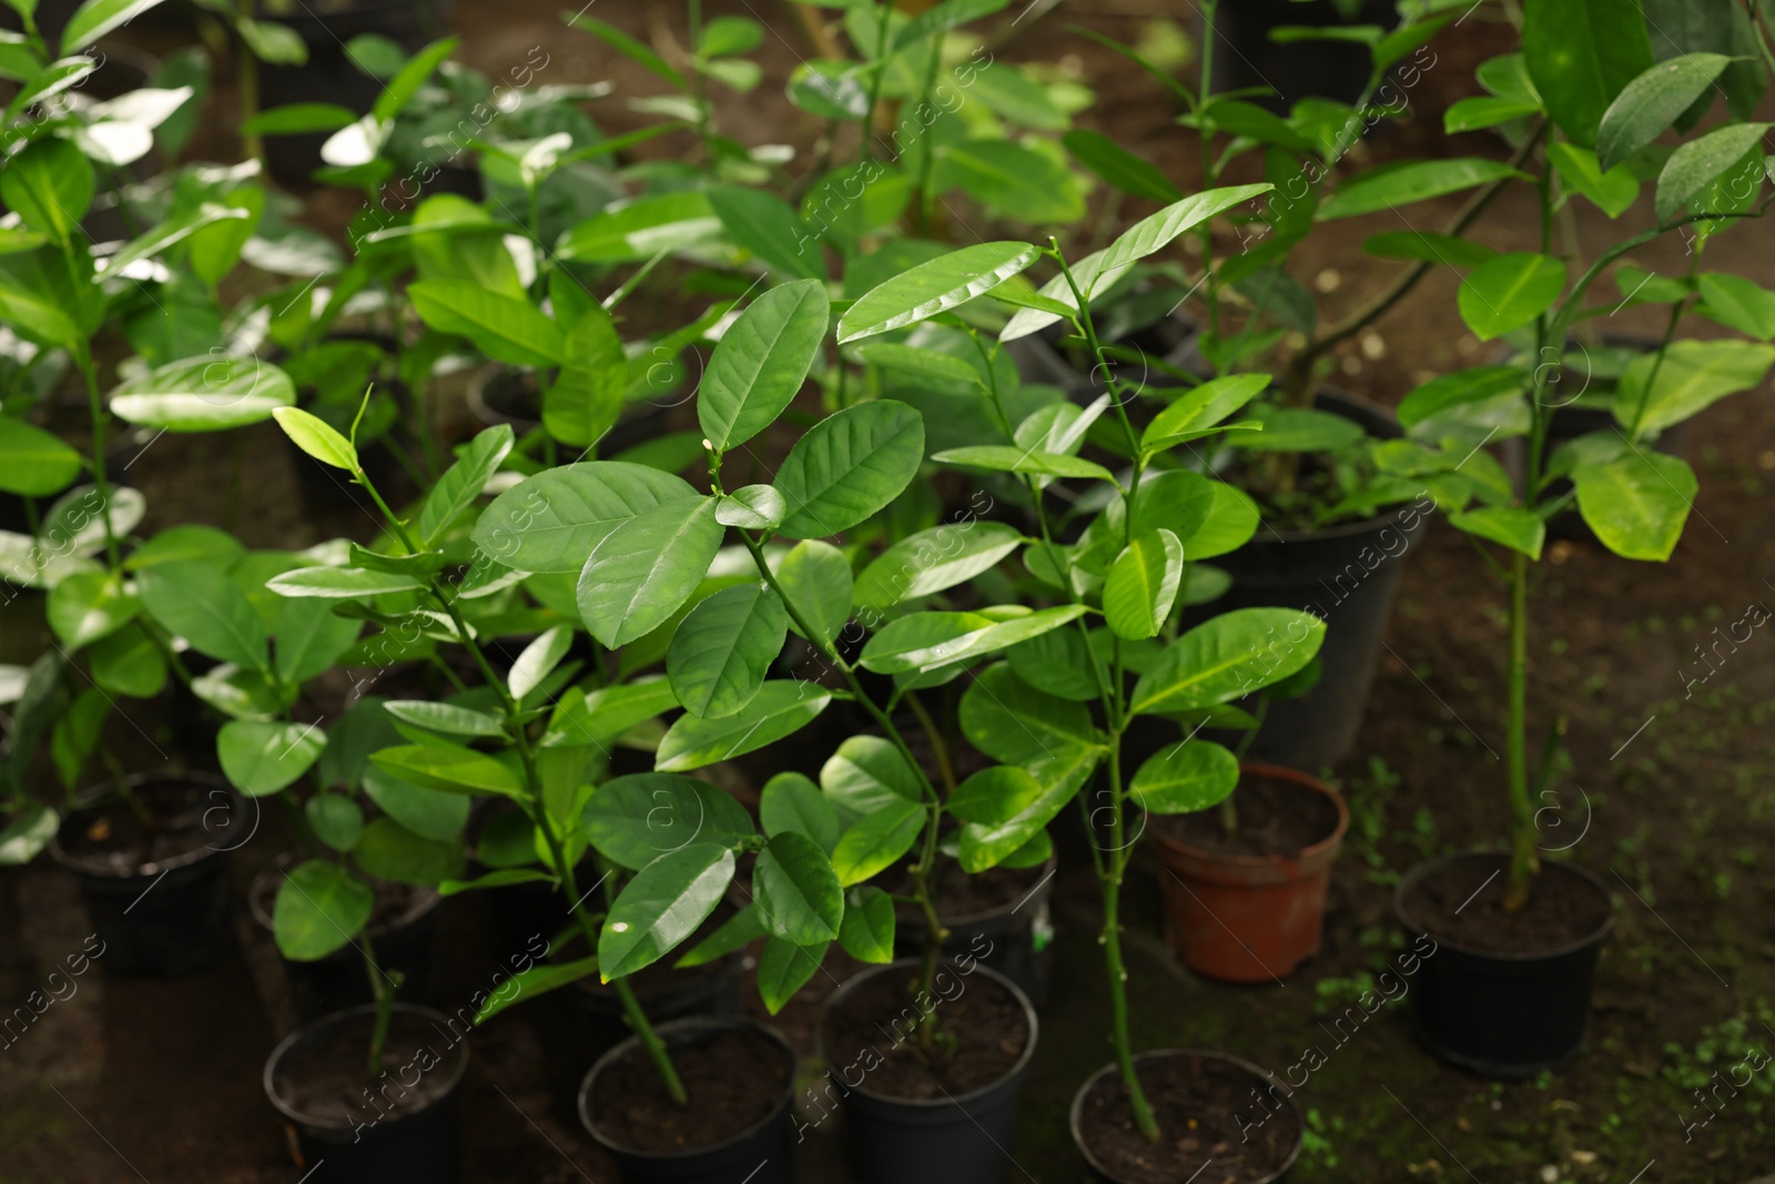
[[[1768,307],[1768,293],[1699,268],[1715,236],[1768,204],[1761,193],[1761,147],[1754,147],[1761,124],[1732,115],[1674,151],[1653,144],[1672,122],[1692,128],[1702,117],[1709,107],[1704,99],[1711,99],[1731,59],[1702,53],[1692,69],[1654,64],[1638,5],[1622,0],[1608,7],[1599,27],[1615,67],[1580,78],[1560,51],[1569,37],[1566,18],[1557,5],[1530,5],[1519,59],[1532,83],[1525,101],[1532,110],[1525,115],[1544,121],[1525,138],[1530,146],[1544,140],[1542,147],[1534,162],[1523,162],[1534,167],[1539,186],[1542,250],[1477,263],[1459,300],[1461,318],[1480,339],[1528,328],[1535,351],[1512,366],[1445,375],[1400,407],[1400,421],[1418,440],[1415,458],[1402,460],[1429,479],[1454,470],[1480,438],[1525,440],[1519,481],[1480,490],[1450,515],[1452,525],[1480,541],[1487,568],[1509,596],[1509,850],[1422,864],[1395,895],[1400,921],[1438,944],[1416,992],[1420,1038],[1463,1067],[1511,1077],[1558,1067],[1578,1051],[1598,951],[1612,925],[1606,886],[1574,863],[1542,861],[1537,847],[1535,802],[1557,772],[1560,731],[1557,724],[1548,728],[1534,763],[1528,612],[1548,522],[1576,502],[1608,550],[1626,559],[1668,561],[1697,479],[1684,460],[1658,451],[1656,440],[1713,401],[1759,385],[1775,364],[1775,348],[1763,343],[1672,343],[1690,293],[1702,280],[1718,293],[1708,296],[1709,305],[1718,304],[1716,320],[1748,328],[1761,341],[1770,337],[1771,325],[1755,312]],[[1684,115],[1690,110],[1693,119]],[[1635,158],[1638,163],[1629,165]],[[1558,201],[1574,195],[1608,211],[1626,209],[1638,193],[1635,170],[1651,170],[1647,162],[1658,178],[1653,227],[1610,243],[1582,272],[1553,254]],[[1658,291],[1660,302],[1670,304],[1663,341],[1622,371],[1608,428],[1553,447],[1553,417],[1566,401],[1557,387],[1562,367],[1535,359],[1566,359],[1569,366],[1573,328],[1619,304],[1587,307],[1594,280],[1631,250],[1670,233],[1683,233],[1695,257],[1684,280]]]

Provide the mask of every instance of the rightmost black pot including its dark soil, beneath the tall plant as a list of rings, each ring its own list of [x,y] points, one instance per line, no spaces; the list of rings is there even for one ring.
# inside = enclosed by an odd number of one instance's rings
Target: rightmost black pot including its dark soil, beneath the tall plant
[[[1613,927],[1601,880],[1546,863],[1528,904],[1503,909],[1509,857],[1468,854],[1418,864],[1393,911],[1431,943],[1415,991],[1418,1040],[1487,1077],[1534,1077],[1569,1062],[1590,1019],[1596,962]]]

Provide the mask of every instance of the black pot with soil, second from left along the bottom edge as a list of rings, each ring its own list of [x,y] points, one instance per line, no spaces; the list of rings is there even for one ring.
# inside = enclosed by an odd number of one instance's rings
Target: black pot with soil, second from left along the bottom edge
[[[795,1053],[749,1021],[685,1019],[655,1028],[690,1097],[678,1108],[641,1042],[605,1053],[579,1092],[584,1127],[625,1182],[790,1179]]]

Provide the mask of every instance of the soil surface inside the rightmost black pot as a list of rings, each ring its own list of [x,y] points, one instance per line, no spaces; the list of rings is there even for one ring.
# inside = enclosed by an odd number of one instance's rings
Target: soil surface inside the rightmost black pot
[[[1431,937],[1482,953],[1551,953],[1592,935],[1608,918],[1608,896],[1557,863],[1541,864],[1519,912],[1505,912],[1509,866],[1505,856],[1443,864],[1411,886],[1406,916]]]

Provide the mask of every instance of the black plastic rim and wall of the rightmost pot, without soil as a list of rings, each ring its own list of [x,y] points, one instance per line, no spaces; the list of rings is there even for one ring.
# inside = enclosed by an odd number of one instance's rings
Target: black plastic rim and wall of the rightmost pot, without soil
[[[1507,856],[1464,854],[1420,863],[1393,891],[1393,916],[1415,939],[1425,935],[1406,911],[1411,889],[1431,872],[1454,863],[1500,863]],[[1548,875],[1574,875],[1606,902],[1608,888],[1583,868],[1548,863]],[[1473,873],[1482,880],[1482,868]],[[1582,941],[1546,953],[1487,953],[1436,943],[1411,985],[1418,1042],[1434,1056],[1486,1077],[1534,1077],[1569,1062],[1583,1044],[1590,1017],[1596,959],[1613,928],[1610,912]]]

